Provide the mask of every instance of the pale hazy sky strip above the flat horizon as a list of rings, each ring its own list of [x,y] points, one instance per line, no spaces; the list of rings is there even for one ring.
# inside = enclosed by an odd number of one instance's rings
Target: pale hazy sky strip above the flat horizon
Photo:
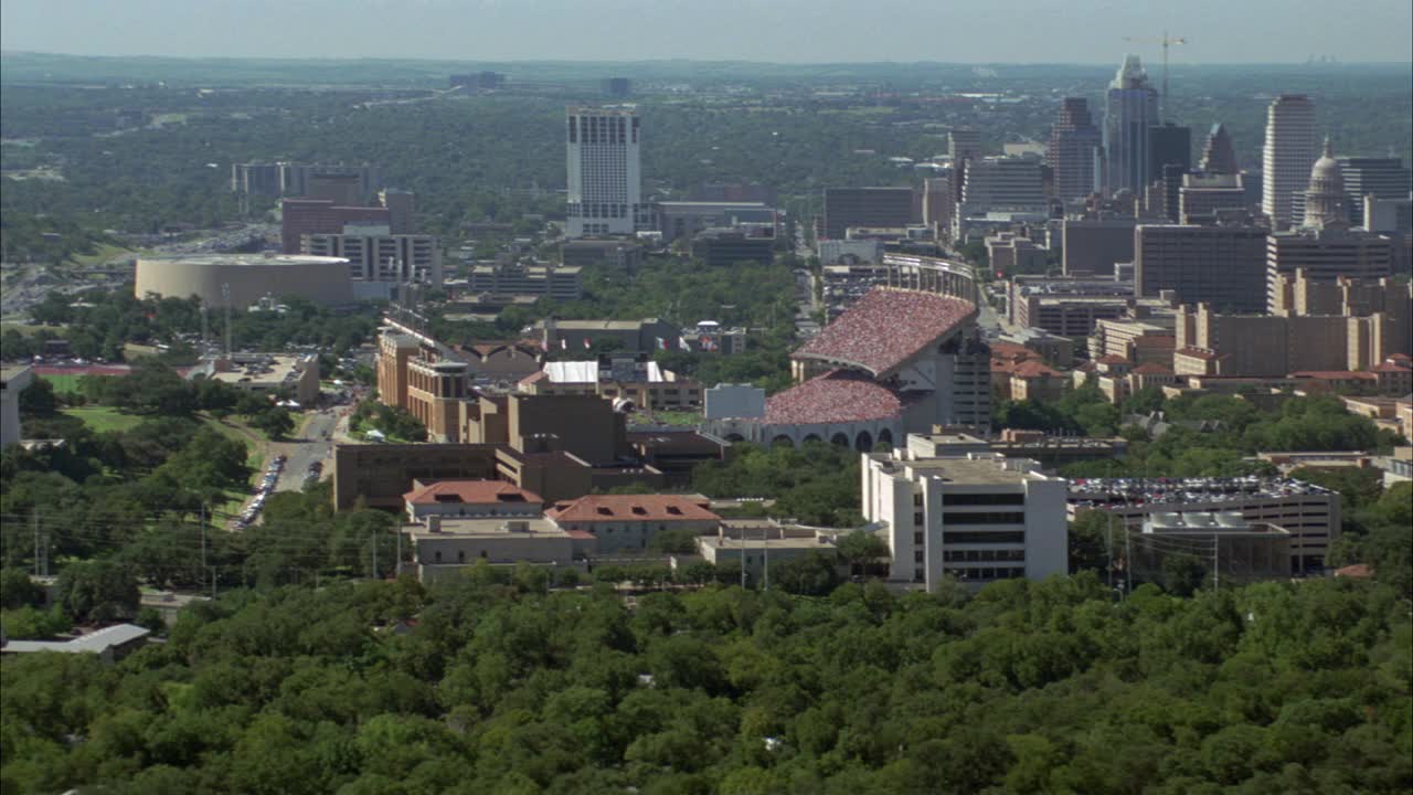
[[[1413,0],[3,0],[0,47],[81,55],[1112,64],[1413,61]]]

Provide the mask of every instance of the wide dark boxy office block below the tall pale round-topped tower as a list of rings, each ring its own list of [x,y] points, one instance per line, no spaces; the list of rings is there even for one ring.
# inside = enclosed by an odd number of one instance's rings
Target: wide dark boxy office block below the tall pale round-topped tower
[[[1140,224],[1133,248],[1139,296],[1174,290],[1183,303],[1210,303],[1226,311],[1266,306],[1265,229]]]

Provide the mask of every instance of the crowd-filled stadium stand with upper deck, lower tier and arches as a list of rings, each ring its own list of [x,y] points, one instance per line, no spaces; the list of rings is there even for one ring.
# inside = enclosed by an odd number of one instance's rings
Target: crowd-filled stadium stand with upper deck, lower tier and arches
[[[791,354],[800,383],[770,396],[757,414],[709,420],[709,431],[763,446],[818,440],[868,451],[933,424],[988,427],[991,352],[976,327],[972,269],[907,255],[885,262],[889,286]]]

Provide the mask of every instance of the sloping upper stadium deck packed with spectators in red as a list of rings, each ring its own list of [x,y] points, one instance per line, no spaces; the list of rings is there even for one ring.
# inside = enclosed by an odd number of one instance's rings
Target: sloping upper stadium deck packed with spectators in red
[[[971,301],[917,290],[875,287],[814,340],[797,359],[824,359],[883,375],[976,315]]]

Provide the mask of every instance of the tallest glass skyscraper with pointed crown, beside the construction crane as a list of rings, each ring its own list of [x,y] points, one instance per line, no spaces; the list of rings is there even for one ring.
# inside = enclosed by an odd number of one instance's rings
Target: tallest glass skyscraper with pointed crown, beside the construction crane
[[[1149,127],[1157,124],[1157,89],[1137,55],[1125,55],[1104,108],[1105,188],[1140,194],[1152,181]]]

